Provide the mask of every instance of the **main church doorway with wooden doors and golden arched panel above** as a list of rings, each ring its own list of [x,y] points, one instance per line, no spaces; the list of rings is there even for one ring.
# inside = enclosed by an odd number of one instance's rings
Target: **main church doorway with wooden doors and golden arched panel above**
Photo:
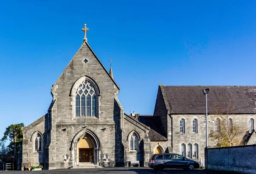
[[[94,162],[94,145],[90,137],[86,135],[79,140],[78,143],[78,156],[79,163],[93,163]]]

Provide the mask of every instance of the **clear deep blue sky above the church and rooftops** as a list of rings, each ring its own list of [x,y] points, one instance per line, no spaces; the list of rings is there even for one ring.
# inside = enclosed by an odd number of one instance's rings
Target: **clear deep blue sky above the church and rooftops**
[[[88,43],[120,86],[125,112],[153,114],[158,84],[256,85],[255,0],[2,0],[0,137],[28,126]]]

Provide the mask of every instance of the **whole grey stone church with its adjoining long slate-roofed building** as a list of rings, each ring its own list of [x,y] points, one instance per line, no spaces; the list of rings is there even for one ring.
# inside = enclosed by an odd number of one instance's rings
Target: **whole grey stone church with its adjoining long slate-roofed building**
[[[52,86],[47,114],[23,128],[18,168],[76,168],[88,163],[128,166],[134,160],[147,166],[152,154],[164,152],[198,161],[203,158],[205,99],[201,89],[206,87],[159,85],[154,115],[125,114],[112,69],[108,72],[88,45],[86,26],[83,31],[83,44]],[[255,86],[207,88],[211,89],[209,101],[220,96],[236,101],[233,120],[254,129]],[[209,114],[209,120],[217,119],[212,108]],[[209,124],[209,130],[214,128],[214,123]]]

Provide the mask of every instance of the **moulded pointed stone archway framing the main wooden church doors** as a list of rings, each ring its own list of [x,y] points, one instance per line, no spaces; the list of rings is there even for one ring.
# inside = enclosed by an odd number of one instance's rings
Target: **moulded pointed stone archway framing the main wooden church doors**
[[[86,140],[86,139],[88,139],[88,140]],[[88,162],[93,162],[94,164],[99,164],[100,142],[99,142],[99,138],[96,136],[96,134],[93,131],[90,131],[89,129],[85,128],[85,129],[79,131],[73,137],[73,140],[71,142],[73,165],[79,164],[79,160],[80,160],[79,157],[81,157],[81,154],[79,156],[79,148],[80,148],[80,153],[85,153],[85,156],[86,156],[87,152],[81,151],[81,149],[90,148],[89,153],[92,153],[92,155],[88,154],[88,156],[89,157],[91,156],[92,159],[91,159],[91,161],[89,159]],[[87,162],[87,161],[85,161],[85,162]]]

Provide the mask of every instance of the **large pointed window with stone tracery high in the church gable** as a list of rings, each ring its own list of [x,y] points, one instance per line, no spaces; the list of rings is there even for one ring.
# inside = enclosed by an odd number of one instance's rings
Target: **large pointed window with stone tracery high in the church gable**
[[[84,80],[76,89],[76,117],[96,116],[96,92],[94,86]]]

